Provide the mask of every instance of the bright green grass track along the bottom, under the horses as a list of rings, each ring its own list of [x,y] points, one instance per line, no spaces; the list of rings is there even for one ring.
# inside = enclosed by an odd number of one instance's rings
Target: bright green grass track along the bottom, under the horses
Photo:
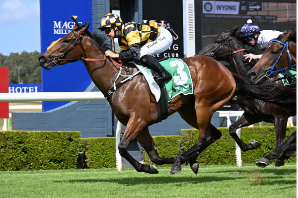
[[[0,198],[296,198],[297,165],[189,166],[169,175],[132,168],[0,172]]]

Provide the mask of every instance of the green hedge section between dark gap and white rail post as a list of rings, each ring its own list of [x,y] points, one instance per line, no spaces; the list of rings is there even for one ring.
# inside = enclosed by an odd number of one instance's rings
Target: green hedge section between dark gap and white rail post
[[[116,168],[116,138],[81,138],[81,151],[88,168]]]

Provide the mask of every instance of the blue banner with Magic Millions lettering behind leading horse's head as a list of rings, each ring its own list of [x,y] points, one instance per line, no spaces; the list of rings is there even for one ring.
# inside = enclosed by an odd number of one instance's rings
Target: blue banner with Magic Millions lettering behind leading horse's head
[[[92,32],[92,0],[40,0],[41,54],[74,29],[71,16],[79,24],[90,23]],[[43,92],[85,91],[91,83],[84,64],[79,62],[42,69],[41,75]],[[67,103],[43,102],[43,111]]]

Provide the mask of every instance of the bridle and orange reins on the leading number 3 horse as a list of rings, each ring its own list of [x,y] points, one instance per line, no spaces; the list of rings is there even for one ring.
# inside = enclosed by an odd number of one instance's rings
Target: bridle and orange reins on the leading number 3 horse
[[[79,36],[77,36],[74,32],[74,30],[72,30],[72,32],[74,33],[74,36],[75,36],[75,41],[74,41],[74,44],[70,46],[69,49],[67,49],[64,53],[61,53],[60,56],[58,57],[54,57],[53,59],[53,63],[56,65],[56,66],[59,66],[59,62],[61,61],[95,61],[95,62],[103,62],[106,60],[106,55],[104,55],[104,58],[103,59],[88,59],[87,58],[87,52],[86,52],[86,47],[84,46],[84,44],[81,42],[82,38],[83,38],[83,35],[80,34]],[[80,59],[61,59],[63,57],[65,57],[70,51],[72,51],[74,49],[74,47],[76,45],[79,45],[82,50],[84,51],[84,54],[85,54],[85,58],[80,58]],[[121,64],[117,63],[116,61],[114,61],[111,57],[110,57],[111,61],[117,65],[117,66],[122,66]],[[121,63],[121,61],[119,60],[119,62]]]

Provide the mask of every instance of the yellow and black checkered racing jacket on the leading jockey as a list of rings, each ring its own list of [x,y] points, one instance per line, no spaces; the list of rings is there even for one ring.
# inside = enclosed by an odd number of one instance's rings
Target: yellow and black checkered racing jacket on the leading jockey
[[[159,25],[154,21],[146,23],[129,22],[122,26],[122,37],[119,39],[120,51],[129,49],[133,44],[144,46],[154,41],[160,33]]]

